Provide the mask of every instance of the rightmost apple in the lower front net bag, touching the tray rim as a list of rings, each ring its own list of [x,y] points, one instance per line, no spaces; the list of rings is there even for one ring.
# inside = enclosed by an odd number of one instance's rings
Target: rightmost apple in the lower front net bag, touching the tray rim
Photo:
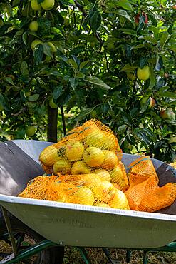
[[[122,210],[130,210],[130,206],[128,204],[128,200],[123,191],[117,190],[115,191],[115,195],[112,200],[108,203],[110,208],[117,208]]]

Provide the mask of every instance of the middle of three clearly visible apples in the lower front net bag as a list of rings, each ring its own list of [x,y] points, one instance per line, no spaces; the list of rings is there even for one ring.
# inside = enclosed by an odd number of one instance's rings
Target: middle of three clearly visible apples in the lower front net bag
[[[109,181],[101,181],[93,189],[95,200],[108,203],[113,199],[115,187]]]

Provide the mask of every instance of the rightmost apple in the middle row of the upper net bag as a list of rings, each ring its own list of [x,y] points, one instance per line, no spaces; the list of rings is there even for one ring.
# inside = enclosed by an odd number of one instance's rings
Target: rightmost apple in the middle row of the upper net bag
[[[115,167],[115,165],[118,163],[118,157],[113,151],[103,151],[103,154],[105,156],[105,159],[103,161],[103,164],[101,165],[102,168],[105,168],[106,170],[110,170]]]

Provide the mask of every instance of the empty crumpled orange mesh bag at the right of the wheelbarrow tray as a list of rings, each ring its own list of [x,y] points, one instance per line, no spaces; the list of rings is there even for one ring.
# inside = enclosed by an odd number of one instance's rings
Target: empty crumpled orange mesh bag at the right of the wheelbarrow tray
[[[125,191],[131,210],[155,212],[174,203],[176,183],[159,187],[157,174],[149,157],[140,157],[130,164],[130,188]]]

